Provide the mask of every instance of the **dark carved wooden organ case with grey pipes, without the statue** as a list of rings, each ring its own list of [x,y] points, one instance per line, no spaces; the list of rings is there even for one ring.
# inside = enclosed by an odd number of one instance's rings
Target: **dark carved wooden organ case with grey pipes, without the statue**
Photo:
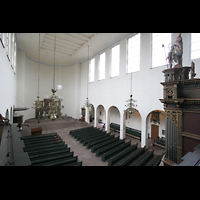
[[[194,78],[192,67],[163,71],[163,99],[166,127],[164,162],[182,162],[183,157],[200,143],[200,79]],[[192,70],[191,70],[192,71]]]

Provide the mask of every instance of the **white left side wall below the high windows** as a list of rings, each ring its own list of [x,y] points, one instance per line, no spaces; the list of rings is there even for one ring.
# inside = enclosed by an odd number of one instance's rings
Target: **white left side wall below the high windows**
[[[6,56],[6,49],[0,43],[0,113],[5,117],[6,110],[16,105],[16,83],[17,75],[11,67]]]

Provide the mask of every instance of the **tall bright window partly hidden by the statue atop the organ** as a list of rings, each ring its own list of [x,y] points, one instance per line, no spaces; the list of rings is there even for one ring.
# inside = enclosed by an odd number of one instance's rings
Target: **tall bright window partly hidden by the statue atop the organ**
[[[166,57],[170,43],[171,33],[152,33],[152,68],[167,64]]]

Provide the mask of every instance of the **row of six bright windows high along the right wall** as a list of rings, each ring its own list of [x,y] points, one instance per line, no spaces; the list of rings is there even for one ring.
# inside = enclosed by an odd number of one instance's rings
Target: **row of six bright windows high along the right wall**
[[[152,68],[167,64],[171,33],[152,33]],[[120,45],[111,48],[110,77],[119,76]],[[191,33],[191,59],[200,58],[200,33]],[[98,80],[105,79],[105,52],[100,54]],[[140,33],[127,39],[127,73],[140,70]],[[89,62],[89,82],[95,77],[95,58]]]

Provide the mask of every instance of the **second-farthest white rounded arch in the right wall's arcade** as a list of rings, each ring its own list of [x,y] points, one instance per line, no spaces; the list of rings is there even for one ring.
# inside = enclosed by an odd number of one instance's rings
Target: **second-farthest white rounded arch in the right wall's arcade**
[[[106,110],[102,104],[99,104],[96,108],[96,126],[103,129],[106,124]]]

